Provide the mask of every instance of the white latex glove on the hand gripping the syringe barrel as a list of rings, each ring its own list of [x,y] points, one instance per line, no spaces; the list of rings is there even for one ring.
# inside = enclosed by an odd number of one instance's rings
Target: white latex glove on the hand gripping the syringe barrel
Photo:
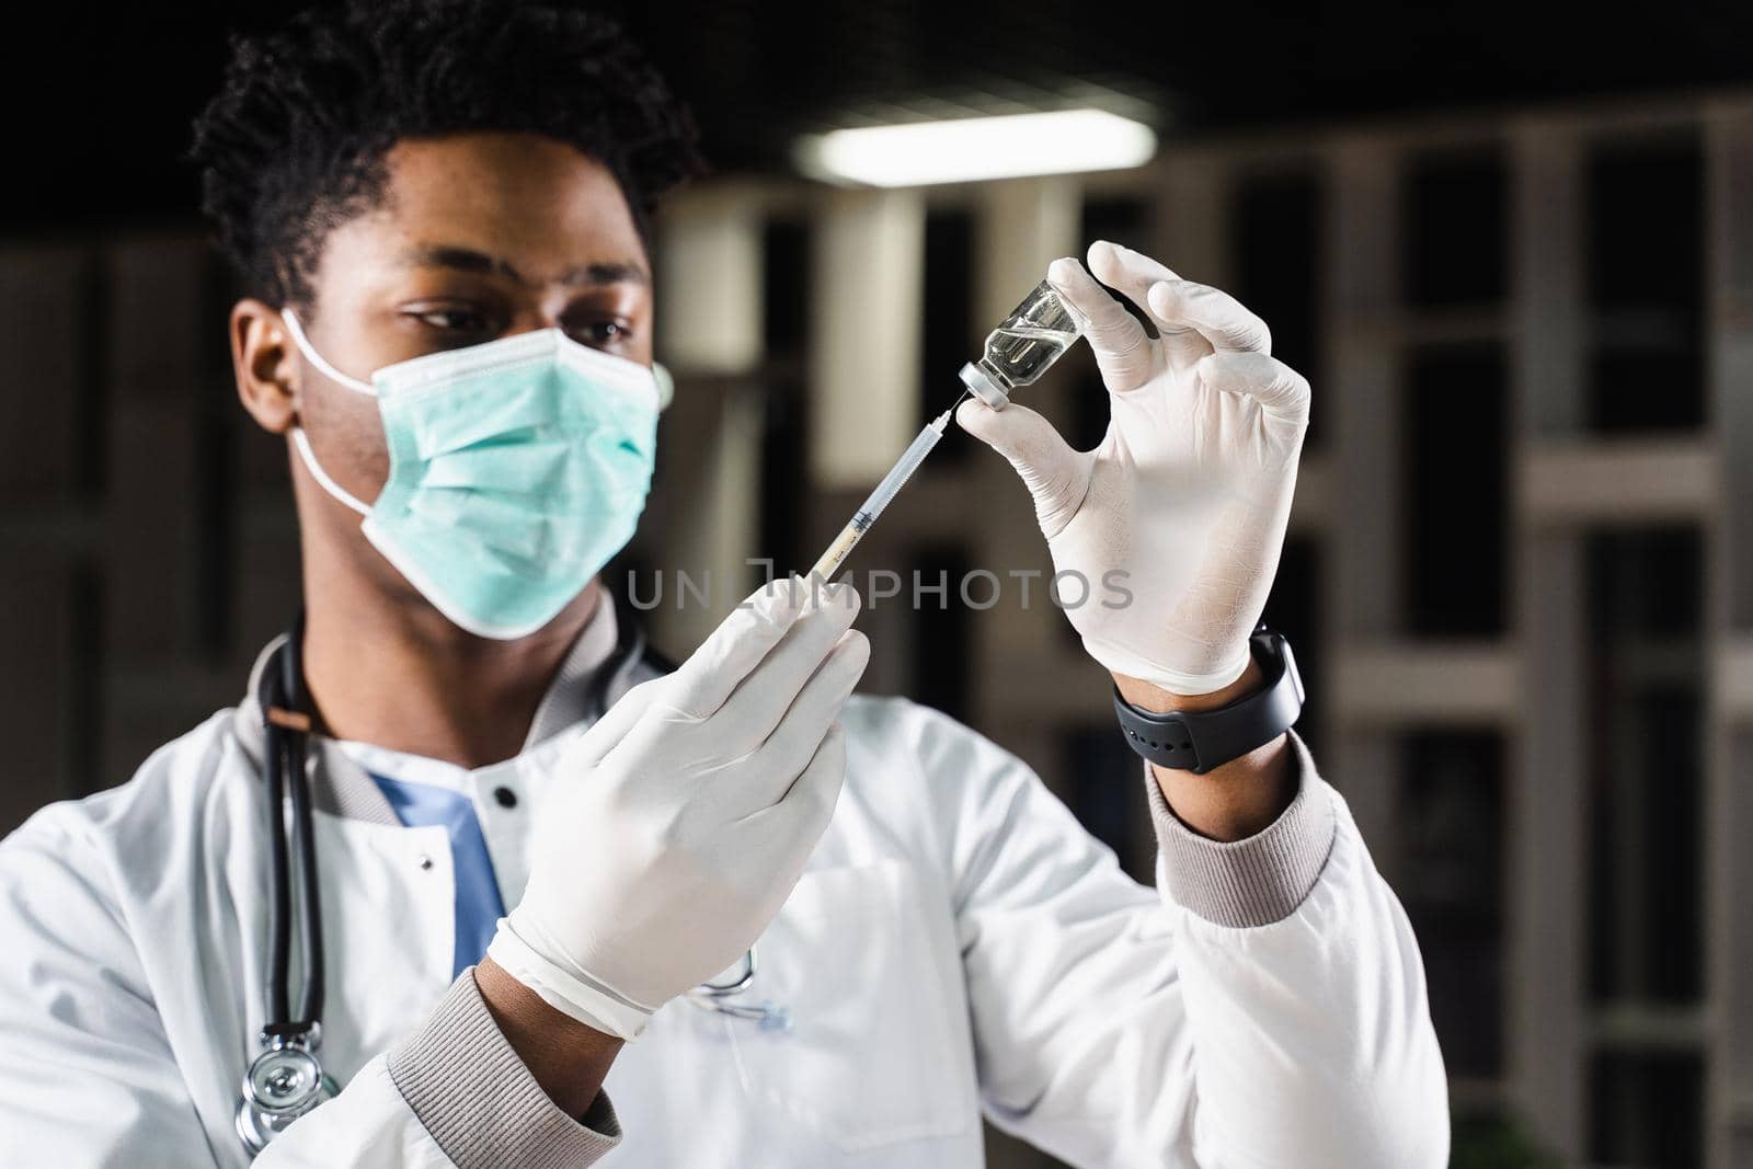
[[[549,1006],[624,1039],[731,966],[820,840],[840,708],[869,643],[848,585],[775,582],[559,761],[524,899],[487,948]]]

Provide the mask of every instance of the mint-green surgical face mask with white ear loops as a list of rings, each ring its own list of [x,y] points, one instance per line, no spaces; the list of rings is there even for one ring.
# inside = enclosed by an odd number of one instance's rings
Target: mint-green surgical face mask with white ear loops
[[[559,329],[387,365],[347,377],[305,338],[331,380],[377,398],[389,478],[366,505],[340,487],[293,429],[326,492],[433,608],[484,638],[552,620],[633,538],[650,489],[668,373],[580,345]]]

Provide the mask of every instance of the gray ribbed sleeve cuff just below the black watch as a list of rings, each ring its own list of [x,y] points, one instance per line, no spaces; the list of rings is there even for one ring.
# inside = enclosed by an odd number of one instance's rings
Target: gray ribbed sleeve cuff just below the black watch
[[[1208,922],[1234,929],[1281,922],[1309,896],[1327,864],[1338,832],[1332,797],[1302,740],[1292,734],[1290,745],[1297,768],[1295,799],[1271,825],[1231,843],[1199,836],[1182,824],[1145,764],[1145,792],[1167,892]]]

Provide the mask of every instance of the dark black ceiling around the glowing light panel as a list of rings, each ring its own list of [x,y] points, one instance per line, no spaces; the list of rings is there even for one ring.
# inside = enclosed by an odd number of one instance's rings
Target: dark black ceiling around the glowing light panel
[[[1167,135],[1416,109],[1753,84],[1753,4],[1644,16],[1532,4],[1266,5],[1208,0],[656,0],[605,4],[696,107],[720,170],[784,165],[799,128],[848,112],[1027,103],[1078,82],[1153,100]],[[1643,5],[1639,5],[1643,7]],[[65,5],[9,35],[9,182],[0,224],[188,216],[179,161],[224,32],[275,7]],[[100,14],[102,12],[102,14]]]

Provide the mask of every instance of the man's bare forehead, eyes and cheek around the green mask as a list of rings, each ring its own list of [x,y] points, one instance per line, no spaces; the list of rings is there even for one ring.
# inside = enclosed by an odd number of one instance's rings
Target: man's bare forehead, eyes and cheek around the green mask
[[[328,235],[300,321],[340,372],[370,380],[545,328],[650,365],[650,263],[601,163],[531,133],[403,140],[386,163],[379,205]],[[324,470],[373,499],[389,473],[377,401],[303,365],[291,407]]]

